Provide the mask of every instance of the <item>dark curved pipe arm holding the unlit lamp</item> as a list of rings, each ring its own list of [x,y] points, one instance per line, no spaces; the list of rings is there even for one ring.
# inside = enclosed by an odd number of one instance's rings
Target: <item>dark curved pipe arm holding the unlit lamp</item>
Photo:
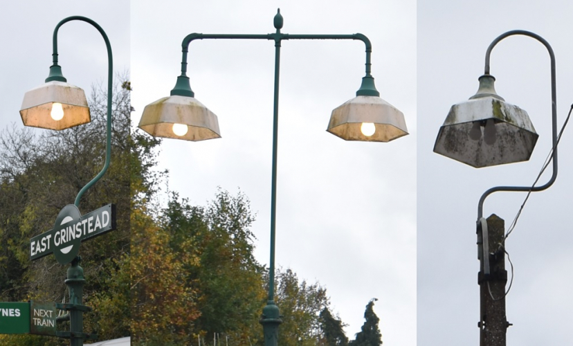
[[[497,186],[495,188],[491,188],[489,190],[487,190],[486,192],[484,192],[484,194],[482,194],[482,197],[480,197],[480,202],[477,205],[477,220],[480,220],[480,218],[483,217],[483,209],[484,209],[484,201],[485,199],[492,194],[493,192],[498,192],[498,191],[509,191],[509,192],[527,192],[529,190],[531,190],[531,192],[538,192],[538,191],[543,191],[547,188],[549,188],[549,186],[553,185],[555,179],[557,178],[557,93],[556,93],[556,78],[555,78],[555,55],[553,53],[553,49],[551,48],[551,46],[549,46],[549,43],[547,43],[547,41],[545,41],[545,39],[543,39],[543,37],[540,37],[539,35],[535,34],[535,33],[531,33],[529,31],[526,30],[511,30],[508,31],[507,33],[504,33],[500,36],[498,36],[496,39],[493,40],[493,42],[491,42],[491,44],[489,45],[489,47],[487,48],[486,51],[486,58],[485,58],[485,70],[484,70],[484,74],[489,75],[489,57],[491,55],[491,51],[493,50],[493,47],[495,47],[496,44],[498,44],[502,39],[512,36],[512,35],[524,35],[524,36],[529,36],[532,37],[536,40],[538,40],[539,42],[541,42],[543,44],[543,46],[545,46],[545,48],[547,48],[547,51],[549,52],[549,57],[551,58],[551,113],[552,113],[552,137],[553,137],[553,154],[552,154],[552,160],[553,160],[553,174],[551,176],[551,179],[549,179],[549,181],[547,181],[547,183],[545,183],[545,185],[541,185],[541,186],[534,186],[533,188],[531,186]]]

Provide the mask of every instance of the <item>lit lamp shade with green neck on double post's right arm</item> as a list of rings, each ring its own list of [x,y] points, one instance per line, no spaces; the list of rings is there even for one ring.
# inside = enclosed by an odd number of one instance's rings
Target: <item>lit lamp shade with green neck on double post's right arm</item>
[[[390,142],[406,136],[403,113],[379,95],[374,78],[364,77],[356,98],[332,111],[327,131],[344,140],[365,142]]]

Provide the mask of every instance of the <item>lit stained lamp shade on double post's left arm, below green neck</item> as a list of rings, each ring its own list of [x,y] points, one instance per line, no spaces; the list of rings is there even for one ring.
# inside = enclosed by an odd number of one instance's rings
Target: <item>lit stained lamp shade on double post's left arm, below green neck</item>
[[[172,95],[147,104],[139,128],[154,137],[193,141],[221,138],[215,113],[190,96]]]

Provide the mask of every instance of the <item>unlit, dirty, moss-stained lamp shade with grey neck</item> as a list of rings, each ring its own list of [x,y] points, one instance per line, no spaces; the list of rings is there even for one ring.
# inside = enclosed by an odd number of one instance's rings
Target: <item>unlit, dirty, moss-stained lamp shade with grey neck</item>
[[[451,107],[434,152],[473,167],[529,160],[538,134],[526,111],[495,93],[494,81],[482,75],[477,93]]]

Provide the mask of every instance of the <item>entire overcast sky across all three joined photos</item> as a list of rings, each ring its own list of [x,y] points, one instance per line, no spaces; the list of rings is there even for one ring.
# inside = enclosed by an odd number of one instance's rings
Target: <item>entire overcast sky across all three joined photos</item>
[[[185,35],[271,33],[278,7],[283,33],[369,37],[376,86],[384,100],[403,111],[410,131],[391,143],[352,143],[328,134],[331,109],[353,98],[360,86],[364,46],[358,41],[283,42],[278,266],[327,287],[334,312],[349,324],[349,338],[360,330],[365,304],[379,298],[375,311],[384,345],[415,345],[416,340],[419,345],[477,345],[477,201],[495,185],[531,184],[549,152],[549,57],[543,45],[509,37],[491,55],[496,90],[525,109],[538,131],[529,162],[475,169],[434,154],[435,136],[451,105],[477,90],[487,46],[513,29],[533,31],[554,48],[561,127],[573,102],[569,1],[552,1],[549,7],[513,0],[420,1],[419,6],[411,0],[149,0],[134,1],[131,9],[129,1],[17,1],[0,12],[0,127],[22,126],[21,100],[47,77],[53,28],[64,17],[84,15],[106,30],[114,70],[131,69],[138,122],[146,104],[173,88]],[[59,53],[71,84],[89,93],[93,84],[107,83],[105,46],[89,24],[62,26]],[[219,117],[223,138],[165,140],[160,156],[161,167],[170,170],[165,188],[194,204],[206,205],[217,186],[233,194],[240,188],[251,199],[257,212],[256,256],[264,264],[269,263],[273,55],[273,43],[266,41],[192,42],[191,86]],[[417,104],[424,129],[419,134]],[[516,274],[507,296],[507,318],[513,323],[508,345],[566,345],[570,340],[569,134],[561,141],[556,183],[532,194],[507,239]],[[495,193],[486,199],[484,216],[495,213],[509,226],[524,197]]]

